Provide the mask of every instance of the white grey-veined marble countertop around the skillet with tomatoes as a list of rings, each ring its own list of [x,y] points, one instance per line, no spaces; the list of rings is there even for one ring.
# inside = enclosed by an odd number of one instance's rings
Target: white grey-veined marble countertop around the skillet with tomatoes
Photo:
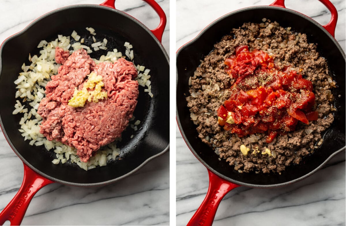
[[[269,5],[273,0],[176,1],[176,49],[228,12],[250,6]],[[345,51],[345,1],[331,0],[338,10],[335,38]],[[286,1],[287,8],[302,12],[321,24],[329,11],[317,0]],[[176,129],[176,225],[188,223],[208,190],[208,172],[186,146]],[[274,189],[239,187],[221,201],[214,226],[318,226],[345,225],[345,151],[317,173],[290,186]]]

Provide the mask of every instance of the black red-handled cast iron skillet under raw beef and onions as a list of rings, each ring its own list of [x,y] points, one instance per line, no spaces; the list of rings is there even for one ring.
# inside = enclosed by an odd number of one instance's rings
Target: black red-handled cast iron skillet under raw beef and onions
[[[107,0],[100,6],[77,5],[49,12],[3,42],[0,49],[0,124],[10,146],[24,163],[24,180],[15,198],[1,212],[0,225],[6,220],[10,220],[11,225],[19,225],[35,193],[49,183],[74,186],[110,184],[134,173],[169,149],[169,122],[164,114],[160,114],[169,108],[169,58],[160,43],[166,16],[155,0],[145,1],[160,16],[160,25],[152,31],[135,18],[116,10],[115,0]],[[93,27],[97,39],[106,37],[110,50],[117,48],[125,53],[124,42],[131,43],[135,63],[151,69],[154,95],[151,98],[140,87],[134,115],[141,124],[132,139],[132,129],[123,133],[120,144],[124,153],[122,159],[90,171],[69,163],[52,164],[55,153],[46,151],[43,146],[30,146],[28,141],[24,141],[18,131],[21,116],[12,115],[16,90],[13,81],[18,77],[22,63],[27,61],[28,54],[37,53],[41,40],[55,40],[58,34],[69,36],[73,30],[85,39],[89,37],[88,42],[92,42],[85,27]],[[86,45],[90,46],[88,42]],[[90,55],[98,59],[107,51],[94,51]]]

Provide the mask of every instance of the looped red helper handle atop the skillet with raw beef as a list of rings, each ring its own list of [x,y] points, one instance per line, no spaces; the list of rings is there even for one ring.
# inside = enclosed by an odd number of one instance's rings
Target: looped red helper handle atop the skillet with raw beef
[[[143,1],[148,3],[157,12],[158,16],[160,17],[160,24],[154,30],[151,30],[151,32],[155,35],[158,41],[161,42],[162,34],[166,27],[166,22],[167,22],[166,14],[155,0],[143,0]],[[114,4],[115,4],[115,0],[106,0],[103,3],[101,3],[100,6],[107,6],[107,7],[115,9]]]

